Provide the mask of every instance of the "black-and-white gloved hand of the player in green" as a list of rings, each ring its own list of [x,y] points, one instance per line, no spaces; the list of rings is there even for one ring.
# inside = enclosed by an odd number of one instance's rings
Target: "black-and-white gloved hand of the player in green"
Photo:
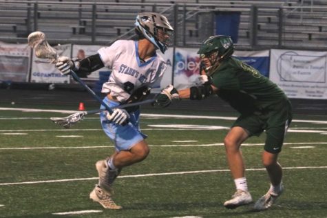
[[[154,106],[158,105],[162,108],[169,106],[172,101],[180,101],[180,95],[178,91],[172,85],[168,85],[166,88],[161,90],[161,92],[156,95],[154,101]]]

